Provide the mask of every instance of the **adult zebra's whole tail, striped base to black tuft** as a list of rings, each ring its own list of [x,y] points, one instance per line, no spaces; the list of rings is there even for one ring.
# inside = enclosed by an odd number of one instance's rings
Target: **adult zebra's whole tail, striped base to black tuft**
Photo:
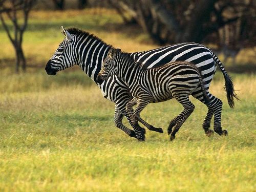
[[[223,76],[225,78],[224,90],[227,95],[227,102],[230,108],[234,108],[234,98],[236,98],[237,100],[240,100],[240,99],[238,98],[237,94],[234,93],[235,91],[234,91],[234,84],[233,84],[232,78],[228,75],[228,73],[224,69],[220,59],[212,51],[211,51],[211,55],[212,55],[212,58],[214,58],[214,61],[219,66],[219,68],[221,69],[221,72],[223,73]]]

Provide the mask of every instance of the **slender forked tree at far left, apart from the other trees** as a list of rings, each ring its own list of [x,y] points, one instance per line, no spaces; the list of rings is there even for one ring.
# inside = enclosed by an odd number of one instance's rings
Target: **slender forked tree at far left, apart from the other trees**
[[[23,34],[28,25],[29,12],[34,3],[35,0],[0,0],[0,19],[15,50],[16,72],[19,71],[20,66],[22,66],[23,71],[26,71],[26,58],[22,42]],[[8,19],[12,26],[7,25]]]

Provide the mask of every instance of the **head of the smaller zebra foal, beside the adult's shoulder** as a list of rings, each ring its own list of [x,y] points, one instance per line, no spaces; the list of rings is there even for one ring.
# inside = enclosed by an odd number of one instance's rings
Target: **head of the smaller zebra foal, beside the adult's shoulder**
[[[120,53],[121,50],[120,49],[115,49],[114,47],[112,47],[109,52],[108,52],[108,56],[106,56],[106,58],[103,61],[103,65],[102,68],[97,76],[97,81],[99,80],[106,80],[108,79],[110,76],[117,74],[117,58],[118,58],[118,53]]]

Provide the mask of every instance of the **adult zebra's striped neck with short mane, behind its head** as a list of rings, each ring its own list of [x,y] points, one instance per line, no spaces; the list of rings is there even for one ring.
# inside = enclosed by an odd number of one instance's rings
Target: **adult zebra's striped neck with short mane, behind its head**
[[[78,41],[78,65],[94,82],[110,48],[110,45],[93,35],[83,36]]]

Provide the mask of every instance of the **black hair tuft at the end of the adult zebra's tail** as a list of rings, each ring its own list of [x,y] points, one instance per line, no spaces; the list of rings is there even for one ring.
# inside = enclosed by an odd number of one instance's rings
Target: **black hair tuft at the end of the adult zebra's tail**
[[[240,99],[234,93],[234,85],[233,85],[232,78],[227,73],[224,74],[224,78],[225,78],[224,89],[227,94],[227,102],[230,108],[234,108],[234,98],[236,98],[237,100],[240,100]]]

